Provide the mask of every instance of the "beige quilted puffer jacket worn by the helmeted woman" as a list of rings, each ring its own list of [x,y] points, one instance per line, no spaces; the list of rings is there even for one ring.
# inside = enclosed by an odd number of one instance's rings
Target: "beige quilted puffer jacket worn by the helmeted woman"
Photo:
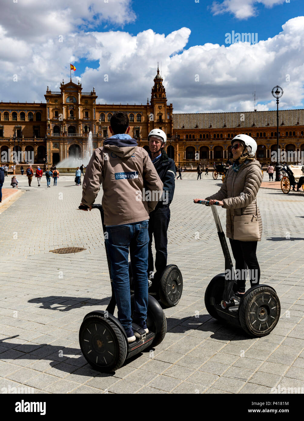
[[[262,180],[261,165],[257,160],[243,164],[237,173],[231,166],[221,189],[215,195],[206,197],[206,200],[223,201],[224,206],[222,207],[226,209],[226,235],[228,238],[233,239],[233,216],[256,215],[256,209],[261,237],[262,220],[259,207],[256,205],[256,195]]]

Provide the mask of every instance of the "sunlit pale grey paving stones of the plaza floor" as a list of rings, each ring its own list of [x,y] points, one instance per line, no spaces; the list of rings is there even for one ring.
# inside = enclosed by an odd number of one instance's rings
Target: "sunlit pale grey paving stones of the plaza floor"
[[[24,194],[0,209],[2,393],[21,387],[34,393],[269,394],[278,385],[304,386],[304,193],[259,191],[261,282],[275,288],[282,310],[275,330],[256,339],[205,309],[205,288],[223,271],[224,258],[210,208],[192,199],[216,192],[221,181],[211,173],[198,181],[195,173],[182,177],[168,229],[168,263],[181,269],[182,298],[165,309],[167,334],[154,352],[108,375],[86,363],[78,343],[85,314],[105,309],[111,294],[99,212],[77,210],[82,190],[74,177],[61,176],[47,189],[45,179],[28,187],[19,176]],[[224,226],[225,210],[219,215]],[[86,250],[49,252],[66,246]]]

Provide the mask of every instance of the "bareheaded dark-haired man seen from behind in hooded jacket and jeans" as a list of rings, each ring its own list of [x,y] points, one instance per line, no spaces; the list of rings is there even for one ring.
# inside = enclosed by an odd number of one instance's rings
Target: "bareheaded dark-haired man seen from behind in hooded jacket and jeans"
[[[133,321],[148,333],[148,219],[163,192],[163,183],[148,152],[128,135],[129,118],[125,112],[112,115],[109,131],[112,136],[94,150],[85,171],[81,204],[91,210],[102,183],[112,285],[118,319],[130,343],[136,337],[131,318],[129,248],[135,285]]]

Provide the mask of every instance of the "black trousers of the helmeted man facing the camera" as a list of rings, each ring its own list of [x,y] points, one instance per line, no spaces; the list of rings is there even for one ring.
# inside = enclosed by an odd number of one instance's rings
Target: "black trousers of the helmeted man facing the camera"
[[[154,280],[160,280],[160,276],[167,266],[167,230],[170,222],[169,206],[158,208],[149,213],[149,245],[148,245],[148,277],[154,271],[152,253],[152,236],[155,242],[155,270]]]

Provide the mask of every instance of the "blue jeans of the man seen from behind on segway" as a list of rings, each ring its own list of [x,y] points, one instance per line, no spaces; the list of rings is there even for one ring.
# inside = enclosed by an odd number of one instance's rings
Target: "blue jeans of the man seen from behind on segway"
[[[132,327],[128,256],[134,280],[134,320],[145,322],[148,306],[148,221],[107,226],[106,244],[111,261],[111,274],[118,319],[125,330]]]

